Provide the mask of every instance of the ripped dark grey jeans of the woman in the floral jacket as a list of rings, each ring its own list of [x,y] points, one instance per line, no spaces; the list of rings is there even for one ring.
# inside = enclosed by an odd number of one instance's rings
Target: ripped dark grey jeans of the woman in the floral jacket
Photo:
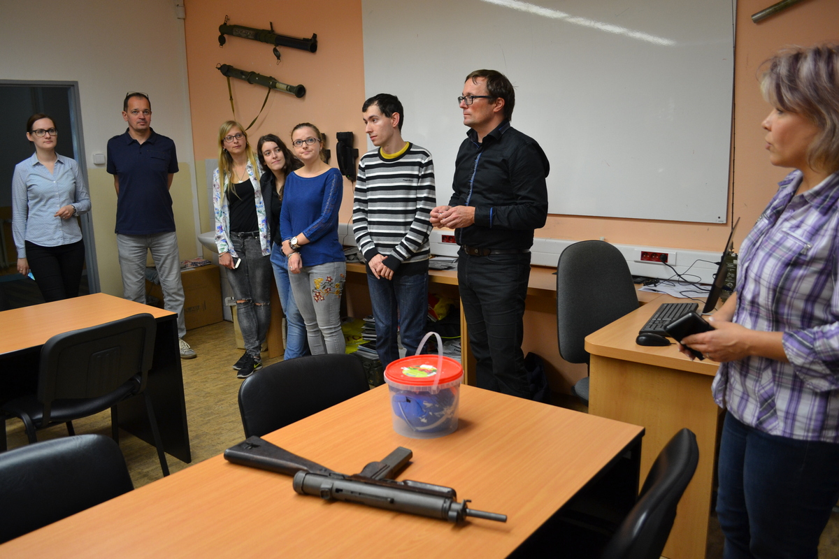
[[[236,298],[236,318],[245,351],[259,359],[271,323],[271,277],[274,275],[271,256],[263,256],[259,239],[240,239],[234,233],[231,241],[236,255],[242,259],[235,270],[227,270],[227,279]]]

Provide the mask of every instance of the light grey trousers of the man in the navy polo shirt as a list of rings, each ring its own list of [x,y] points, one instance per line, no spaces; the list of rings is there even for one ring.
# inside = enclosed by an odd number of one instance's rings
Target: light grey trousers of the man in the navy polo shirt
[[[119,268],[122,271],[122,297],[146,304],[146,256],[152,251],[157,267],[163,306],[178,313],[178,337],[186,335],[184,286],[180,282],[180,255],[175,231],[154,235],[118,235]]]

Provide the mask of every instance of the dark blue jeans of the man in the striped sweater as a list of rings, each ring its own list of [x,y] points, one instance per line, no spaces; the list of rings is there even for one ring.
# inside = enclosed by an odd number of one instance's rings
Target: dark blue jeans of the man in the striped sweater
[[[428,316],[428,273],[377,279],[367,270],[367,287],[373,317],[376,318],[376,351],[385,367],[399,359],[397,326],[402,334],[405,355],[414,355],[425,333]]]

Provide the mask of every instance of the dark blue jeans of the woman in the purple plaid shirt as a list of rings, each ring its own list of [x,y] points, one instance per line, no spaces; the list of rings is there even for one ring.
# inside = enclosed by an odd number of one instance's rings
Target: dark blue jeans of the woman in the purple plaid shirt
[[[815,559],[837,498],[839,444],[769,435],[726,414],[717,493],[724,559]]]

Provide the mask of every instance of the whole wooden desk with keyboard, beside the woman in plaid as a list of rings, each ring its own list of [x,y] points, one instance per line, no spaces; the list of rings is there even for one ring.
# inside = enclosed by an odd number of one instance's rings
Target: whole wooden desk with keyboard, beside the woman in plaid
[[[696,433],[699,465],[679,504],[664,556],[704,559],[711,512],[711,484],[717,453],[720,408],[711,397],[717,363],[691,361],[676,345],[642,347],[638,330],[659,307],[680,301],[660,296],[653,303],[586,338],[591,354],[589,413],[646,429],[641,476],[646,477],[664,444],[682,427]]]

